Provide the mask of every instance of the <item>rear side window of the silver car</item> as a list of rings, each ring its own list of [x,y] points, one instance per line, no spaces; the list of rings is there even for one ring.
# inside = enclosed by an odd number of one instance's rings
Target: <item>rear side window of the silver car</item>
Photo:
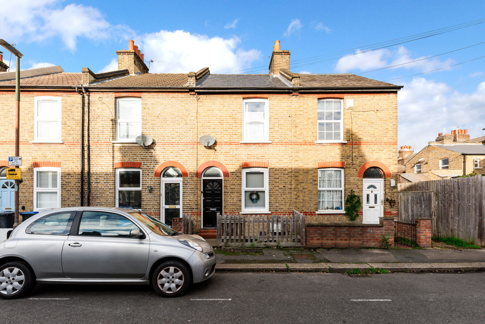
[[[25,232],[27,234],[69,235],[76,211],[56,212],[34,221]]]

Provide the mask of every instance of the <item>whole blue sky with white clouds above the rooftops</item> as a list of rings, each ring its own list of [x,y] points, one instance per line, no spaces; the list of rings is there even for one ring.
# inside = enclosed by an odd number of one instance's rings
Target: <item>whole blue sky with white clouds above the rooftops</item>
[[[15,3],[14,3],[15,2]],[[134,39],[151,72],[265,73],[274,41],[291,61],[485,18],[484,1],[1,1],[0,38],[25,55],[22,69],[66,72],[116,68],[115,51]],[[414,64],[376,68],[485,42],[485,23],[358,55],[292,67],[299,73],[352,72],[388,81],[399,94],[399,145],[419,150],[459,126],[485,135],[485,44]],[[5,51],[3,51],[5,52]],[[351,51],[356,53],[356,50]],[[346,53],[351,53],[346,52]],[[8,64],[9,55],[4,54]],[[296,61],[299,62],[299,61]],[[257,68],[264,66],[263,68]],[[469,83],[468,83],[469,82]],[[465,85],[462,85],[467,83]],[[460,86],[462,85],[462,86]],[[456,89],[454,87],[460,86]],[[465,125],[465,126],[462,126]]]

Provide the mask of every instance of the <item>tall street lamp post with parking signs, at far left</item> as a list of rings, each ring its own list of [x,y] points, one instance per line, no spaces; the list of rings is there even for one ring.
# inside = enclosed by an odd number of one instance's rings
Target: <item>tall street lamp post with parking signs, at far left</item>
[[[9,43],[5,42],[3,39],[0,39],[0,45],[7,49],[9,52],[15,55],[16,57],[16,72],[15,72],[15,156],[20,156],[20,147],[19,147],[19,137],[20,137],[20,58],[23,56],[15,47],[10,45]],[[15,166],[16,168],[19,165]],[[20,192],[20,187],[18,180],[15,180],[17,185],[17,191],[15,192],[15,223],[14,228],[18,226],[18,194]]]

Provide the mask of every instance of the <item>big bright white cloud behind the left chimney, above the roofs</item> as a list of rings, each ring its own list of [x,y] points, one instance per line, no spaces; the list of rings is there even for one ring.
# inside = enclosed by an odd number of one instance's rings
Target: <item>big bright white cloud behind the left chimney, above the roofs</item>
[[[210,67],[211,73],[234,73],[261,57],[259,50],[238,48],[240,42],[236,36],[208,37],[185,31],[153,32],[137,38],[146,63],[148,60],[167,62],[152,63],[152,73],[187,73],[205,66]],[[113,59],[101,72],[117,68]]]

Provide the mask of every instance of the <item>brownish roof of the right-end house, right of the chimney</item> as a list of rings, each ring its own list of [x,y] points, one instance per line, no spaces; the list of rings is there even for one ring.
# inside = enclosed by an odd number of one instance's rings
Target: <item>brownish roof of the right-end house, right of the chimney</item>
[[[394,86],[392,83],[376,81],[353,73],[300,74],[300,87],[379,87]]]

